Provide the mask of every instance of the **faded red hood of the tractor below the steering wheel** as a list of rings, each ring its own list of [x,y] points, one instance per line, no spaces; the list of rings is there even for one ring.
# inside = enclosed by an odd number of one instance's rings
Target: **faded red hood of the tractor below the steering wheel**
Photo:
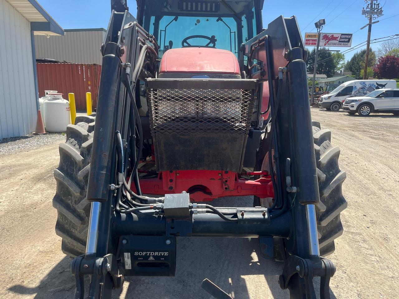
[[[178,48],[165,52],[159,73],[240,74],[237,57],[215,48]]]

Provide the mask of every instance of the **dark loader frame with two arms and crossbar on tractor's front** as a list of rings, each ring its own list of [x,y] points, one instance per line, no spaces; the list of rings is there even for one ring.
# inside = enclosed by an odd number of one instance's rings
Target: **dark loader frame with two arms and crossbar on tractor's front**
[[[261,177],[250,181],[239,177],[237,172],[196,171],[197,177],[203,178],[201,185],[212,191],[212,196],[274,197],[281,204],[280,209],[274,210],[219,208],[219,212],[233,215],[229,221],[190,203],[190,197],[196,199],[196,193],[195,190],[185,190],[188,186],[185,183],[190,181],[192,173],[184,170],[163,171],[155,179],[140,181],[143,190],[148,186],[153,188],[154,194],[166,194],[162,207],[154,208],[155,212],[119,213],[115,210],[121,196],[121,189],[116,185],[121,177],[126,177],[118,157],[122,152],[127,165],[128,155],[135,150],[136,142],[135,134],[130,131],[134,99],[123,78],[126,73],[135,72],[138,77],[150,77],[140,67],[142,51],[157,51],[152,36],[127,10],[113,11],[102,46],[103,68],[87,191],[91,214],[86,254],[75,258],[71,264],[76,281],[75,298],[84,297],[84,275],[91,276],[91,299],[111,298],[112,289],[122,287],[123,275],[174,275],[176,238],[179,236],[259,237],[269,248],[273,248],[273,238],[277,238],[281,248],[285,248],[280,287],[289,289],[292,299],[313,299],[316,293],[312,279],[320,276],[320,297],[330,298],[328,285],[335,268],[318,252],[314,206],[319,202],[319,193],[304,63],[306,52],[296,18],[280,16],[241,48],[242,55],[249,57],[250,62],[257,57],[259,63],[257,73],[244,65],[241,66],[243,70],[258,79],[259,84],[269,83],[275,125],[272,116],[272,133],[268,134],[273,136],[275,181],[274,175],[267,173],[254,173]],[[135,85],[135,82],[130,83]],[[278,101],[281,101],[280,105]],[[118,136],[125,151],[119,149]],[[261,141],[261,148],[268,146],[266,139]],[[129,145],[133,147],[129,148]],[[124,154],[126,151],[128,153]],[[134,173],[132,176],[138,178]],[[215,183],[209,183],[211,181]],[[154,186],[158,186],[158,191]],[[149,262],[162,263],[164,270],[143,270],[140,260],[130,256],[132,252],[144,253],[146,257],[148,253],[159,253],[150,255],[154,261]],[[265,254],[270,256],[270,250]],[[156,260],[154,256],[168,256],[168,260]],[[209,287],[205,282],[204,288],[217,297],[217,287]]]

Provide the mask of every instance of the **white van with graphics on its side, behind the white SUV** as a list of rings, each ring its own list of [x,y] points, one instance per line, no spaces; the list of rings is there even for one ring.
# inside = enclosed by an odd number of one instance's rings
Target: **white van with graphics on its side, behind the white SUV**
[[[318,106],[326,110],[338,111],[346,98],[365,96],[375,89],[396,88],[395,80],[353,80],[342,83],[328,94],[320,96]]]

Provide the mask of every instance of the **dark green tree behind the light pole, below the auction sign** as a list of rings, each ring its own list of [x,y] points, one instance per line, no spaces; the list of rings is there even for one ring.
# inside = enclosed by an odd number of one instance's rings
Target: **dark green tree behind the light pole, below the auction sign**
[[[326,47],[319,48],[316,74],[324,74],[328,78],[330,78],[330,77],[334,76],[334,71],[336,69],[336,66],[334,63],[334,59],[332,58],[331,52],[323,51],[323,50],[328,50],[328,48],[326,48]],[[308,58],[306,59],[307,71],[309,74],[313,74],[314,57],[316,56],[316,48],[313,48],[312,51],[309,51],[308,49],[306,49],[306,51],[308,51]]]

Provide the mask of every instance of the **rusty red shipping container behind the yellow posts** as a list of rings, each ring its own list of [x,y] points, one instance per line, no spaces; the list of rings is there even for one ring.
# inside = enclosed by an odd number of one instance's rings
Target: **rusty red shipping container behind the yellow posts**
[[[75,94],[76,109],[86,110],[86,92],[91,92],[93,110],[97,107],[101,65],[83,63],[36,63],[39,96],[44,90],[57,90],[68,99]]]

